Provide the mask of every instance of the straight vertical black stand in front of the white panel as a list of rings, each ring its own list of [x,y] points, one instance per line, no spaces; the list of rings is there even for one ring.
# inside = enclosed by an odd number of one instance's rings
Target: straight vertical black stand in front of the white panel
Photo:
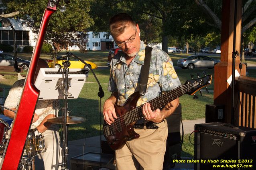
[[[67,116],[68,116],[68,104],[67,104],[67,97],[69,96],[68,94],[68,87],[69,87],[69,66],[70,66],[70,62],[69,62],[69,56],[67,56],[67,61],[65,61],[63,63],[64,66],[64,74],[65,74],[65,93],[63,94],[63,96],[65,96],[64,99],[64,125],[63,125],[63,144],[62,144],[62,162],[61,162],[61,169],[62,170],[67,170],[67,156],[68,156],[68,152],[69,152],[69,148],[67,146],[67,132],[68,132],[68,124],[67,124]]]

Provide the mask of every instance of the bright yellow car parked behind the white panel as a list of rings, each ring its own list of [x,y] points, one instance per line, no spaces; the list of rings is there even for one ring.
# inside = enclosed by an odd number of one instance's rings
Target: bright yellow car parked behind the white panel
[[[63,56],[57,56],[55,68],[60,68],[62,66],[62,62],[66,61],[66,55]],[[84,60],[91,69],[98,68],[98,66],[94,62],[89,62],[87,60]],[[75,58],[69,58],[70,66],[69,68],[88,68],[83,64],[81,61],[75,59]],[[53,68],[53,60],[47,60],[47,63],[50,68]]]

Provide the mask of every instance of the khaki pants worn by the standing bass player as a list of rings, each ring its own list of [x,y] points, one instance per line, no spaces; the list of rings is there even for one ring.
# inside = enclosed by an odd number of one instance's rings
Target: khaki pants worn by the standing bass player
[[[117,170],[162,170],[168,135],[167,122],[158,129],[134,129],[138,139],[127,141],[116,150]]]

